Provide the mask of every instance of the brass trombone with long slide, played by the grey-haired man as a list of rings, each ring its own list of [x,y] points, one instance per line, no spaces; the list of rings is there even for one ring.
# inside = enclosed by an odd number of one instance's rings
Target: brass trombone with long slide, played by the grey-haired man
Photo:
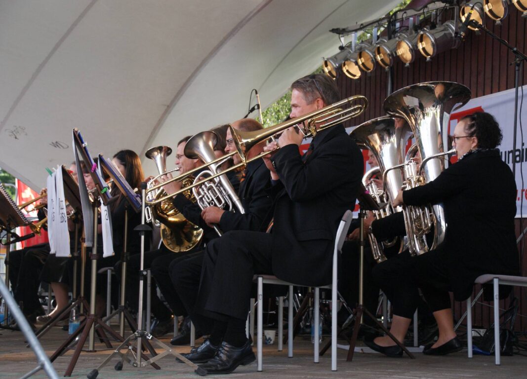
[[[354,104],[354,102],[357,102],[357,104]],[[352,106],[346,109],[340,108],[340,106],[343,106],[346,104],[351,104]],[[247,165],[248,163],[252,161],[255,161],[258,158],[261,158],[264,155],[272,153],[272,152],[262,152],[250,159],[247,159],[247,157],[245,156],[245,152],[249,152],[249,150],[253,146],[259,144],[262,141],[265,141],[268,138],[274,141],[276,138],[278,138],[278,136],[281,133],[285,132],[286,129],[290,128],[291,126],[298,127],[300,133],[302,133],[304,137],[314,137],[319,131],[323,129],[326,129],[328,127],[348,121],[348,119],[350,118],[357,117],[358,115],[364,112],[367,106],[368,106],[368,99],[365,96],[355,95],[355,96],[347,97],[337,103],[325,106],[324,108],[317,109],[316,111],[310,112],[304,116],[292,118],[289,121],[286,121],[286,122],[283,122],[283,123],[280,123],[274,126],[270,126],[268,128],[265,128],[259,131],[242,132],[242,131],[237,131],[232,126],[229,126],[231,134],[232,134],[232,138],[234,139],[234,142],[236,145],[235,152],[232,152],[232,153],[223,155],[219,158],[216,158],[205,166],[200,166],[200,167],[191,169],[190,171],[184,174],[170,178],[168,181],[165,181],[163,183],[160,183],[158,185],[155,185],[149,188],[148,192],[157,191],[159,188],[161,188],[165,184],[168,184],[174,181],[182,181],[183,179],[187,178],[188,176],[194,173],[199,173],[203,171],[203,168],[206,166],[221,165],[223,162],[227,161],[227,159],[229,159],[235,154],[238,154],[240,156],[241,163],[233,165],[227,168],[225,171],[215,173],[204,179],[196,181],[190,186],[181,188],[179,191],[174,192],[173,194],[166,195],[166,196],[157,198],[155,200],[147,199],[145,200],[145,203],[147,205],[155,205],[155,204],[161,203],[162,201],[168,200],[171,197],[175,197],[184,191],[188,191],[190,188],[201,186],[203,183],[206,183],[210,181],[211,179],[217,178],[218,176],[223,175],[229,171],[236,170],[240,167]],[[278,148],[280,147],[277,147],[277,149]],[[277,149],[275,149],[274,151],[276,151]]]

